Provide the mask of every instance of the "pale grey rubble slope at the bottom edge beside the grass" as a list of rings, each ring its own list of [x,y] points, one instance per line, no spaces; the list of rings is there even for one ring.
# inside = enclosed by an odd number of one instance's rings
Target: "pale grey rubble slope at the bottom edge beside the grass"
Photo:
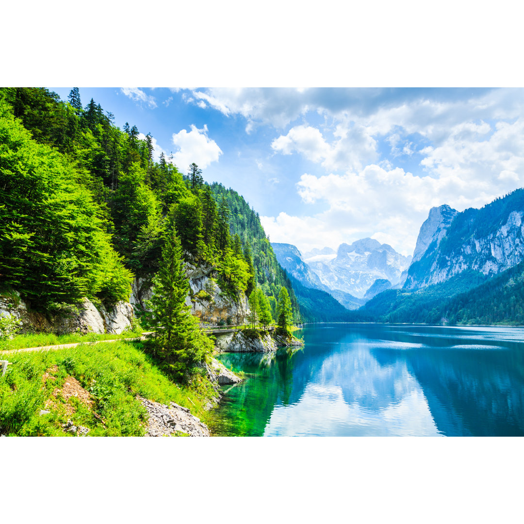
[[[143,403],[149,413],[147,433],[145,436],[171,436],[187,433],[189,436],[209,436],[209,428],[191,414],[188,408],[183,408],[174,402],[169,406],[136,397]]]

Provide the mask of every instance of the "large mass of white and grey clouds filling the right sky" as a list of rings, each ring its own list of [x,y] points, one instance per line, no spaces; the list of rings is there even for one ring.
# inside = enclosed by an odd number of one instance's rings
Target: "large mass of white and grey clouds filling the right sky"
[[[432,206],[461,211],[524,185],[524,90],[190,89],[183,97],[241,115],[248,134],[278,129],[275,154],[312,162],[317,171],[302,174],[297,191],[327,210],[261,217],[273,241],[301,250],[373,236],[409,254]]]

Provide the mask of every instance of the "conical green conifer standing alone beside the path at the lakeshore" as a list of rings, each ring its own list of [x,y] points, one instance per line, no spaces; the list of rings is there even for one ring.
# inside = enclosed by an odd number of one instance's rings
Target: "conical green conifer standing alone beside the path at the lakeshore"
[[[198,320],[185,305],[188,289],[182,247],[172,225],[162,249],[160,268],[153,279],[149,324],[156,331],[157,354],[179,380],[188,379],[196,364],[213,350],[213,343],[200,331]]]

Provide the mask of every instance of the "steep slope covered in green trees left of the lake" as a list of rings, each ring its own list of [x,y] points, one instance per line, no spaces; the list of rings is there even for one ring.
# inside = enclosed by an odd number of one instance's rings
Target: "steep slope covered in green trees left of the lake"
[[[0,281],[31,307],[59,311],[85,296],[129,298],[133,277],[159,267],[166,235],[185,259],[216,268],[231,296],[261,287],[275,301],[289,279],[258,214],[242,196],[203,182],[196,165],[153,159],[151,136],[73,89],[0,89]],[[168,219],[169,217],[169,219]]]

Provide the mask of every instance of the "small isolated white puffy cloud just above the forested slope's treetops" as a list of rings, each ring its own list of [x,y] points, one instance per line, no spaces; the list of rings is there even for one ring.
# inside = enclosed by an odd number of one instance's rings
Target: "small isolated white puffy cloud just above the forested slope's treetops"
[[[217,162],[222,150],[214,140],[208,137],[208,126],[197,129],[191,125],[191,131],[182,129],[173,134],[173,144],[178,151],[173,154],[173,163],[184,172],[188,166],[195,162],[201,169],[208,167],[211,162]]]

